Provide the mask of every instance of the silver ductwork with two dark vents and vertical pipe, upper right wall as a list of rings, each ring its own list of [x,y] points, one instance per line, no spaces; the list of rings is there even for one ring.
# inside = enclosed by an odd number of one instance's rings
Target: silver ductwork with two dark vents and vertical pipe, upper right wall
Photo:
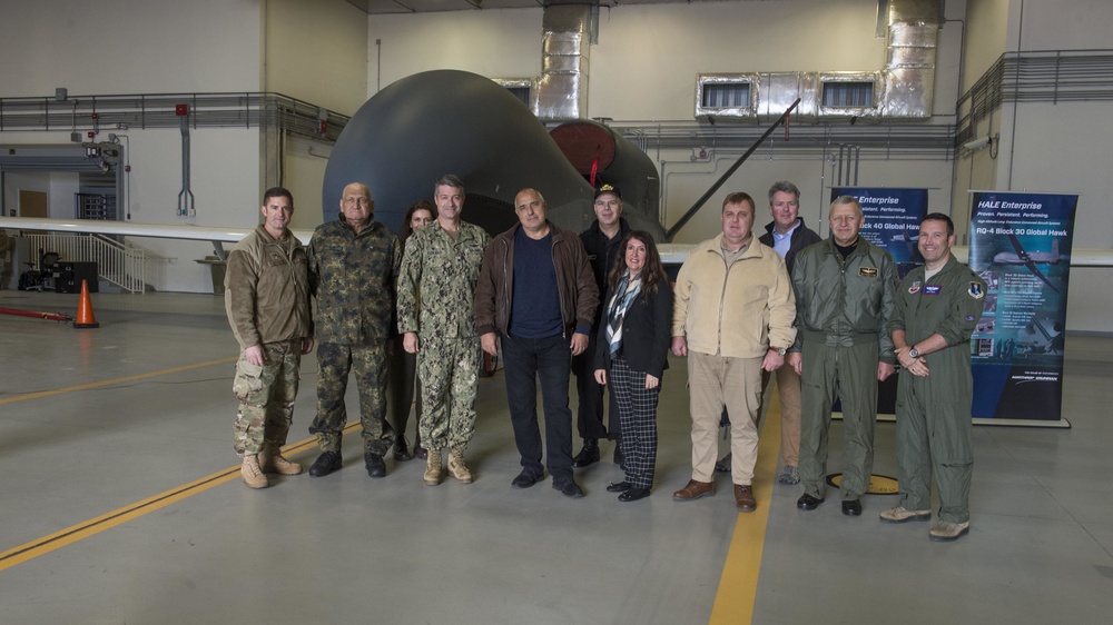
[[[797,121],[932,116],[939,6],[936,0],[879,0],[886,10],[886,65],[879,71],[701,73],[696,118],[770,122],[800,99]]]

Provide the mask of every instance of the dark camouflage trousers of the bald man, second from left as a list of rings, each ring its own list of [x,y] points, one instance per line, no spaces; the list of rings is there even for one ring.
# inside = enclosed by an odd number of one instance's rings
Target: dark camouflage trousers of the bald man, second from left
[[[355,374],[359,393],[359,423],[364,453],[383,456],[394,445],[394,428],[386,423],[386,344],[317,346],[317,417],[309,426],[324,452],[339,452],[347,423],[348,374]]]

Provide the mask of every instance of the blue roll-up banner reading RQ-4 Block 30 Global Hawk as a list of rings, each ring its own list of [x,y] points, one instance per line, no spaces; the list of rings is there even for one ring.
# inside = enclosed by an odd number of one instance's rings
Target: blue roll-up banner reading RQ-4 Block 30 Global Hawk
[[[987,287],[971,339],[973,416],[1070,427],[1062,417],[1063,347],[1078,196],[972,195],[968,264]]]

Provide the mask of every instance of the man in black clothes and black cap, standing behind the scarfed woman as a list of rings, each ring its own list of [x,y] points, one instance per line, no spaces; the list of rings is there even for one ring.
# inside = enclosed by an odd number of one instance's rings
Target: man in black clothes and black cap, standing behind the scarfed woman
[[[607,292],[607,274],[614,267],[614,258],[620,254],[619,244],[630,234],[630,225],[622,219],[622,192],[612,185],[602,185],[595,191],[595,221],[590,228],[580,232],[580,241],[588,252],[588,261],[595,275],[599,295]],[[603,387],[595,381],[592,356],[595,354],[595,339],[599,335],[602,310],[601,302],[595,312],[595,320],[588,337],[588,348],[572,358],[572,371],[575,374],[575,390],[580,397],[580,408],[577,413],[577,429],[583,439],[583,448],[572,458],[572,466],[583,468],[599,462],[599,439],[609,438],[614,442],[614,464],[622,464],[619,450],[619,411],[611,397],[611,408],[608,410],[608,423],[603,426]]]

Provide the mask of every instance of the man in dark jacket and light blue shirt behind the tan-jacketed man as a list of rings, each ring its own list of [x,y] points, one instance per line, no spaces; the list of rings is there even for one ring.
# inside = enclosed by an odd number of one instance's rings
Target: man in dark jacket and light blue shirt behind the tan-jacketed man
[[[800,217],[800,189],[796,185],[781,180],[769,187],[769,214],[772,221],[766,226],[766,234],[758,239],[774,248],[792,275],[796,255],[811,244],[823,239],[804,224]],[[761,388],[769,387],[772,375],[761,374]],[[777,369],[777,389],[780,394],[780,455],[781,474],[777,479],[781,484],[799,484],[800,475],[796,467],[800,457],[800,376],[786,365]],[[765,407],[762,406],[762,413]],[[761,415],[758,414],[758,420]],[[716,463],[717,470],[730,470],[730,455]]]

